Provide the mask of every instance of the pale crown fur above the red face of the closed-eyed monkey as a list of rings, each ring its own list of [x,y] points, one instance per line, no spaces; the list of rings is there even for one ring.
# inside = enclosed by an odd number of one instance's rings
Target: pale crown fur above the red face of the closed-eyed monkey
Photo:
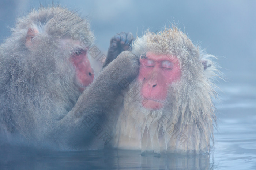
[[[132,46],[132,52],[140,56],[153,51],[155,54],[173,54],[180,63],[186,58],[199,58],[199,49],[178,28],[165,29],[159,33],[147,31],[142,37],[137,37]]]

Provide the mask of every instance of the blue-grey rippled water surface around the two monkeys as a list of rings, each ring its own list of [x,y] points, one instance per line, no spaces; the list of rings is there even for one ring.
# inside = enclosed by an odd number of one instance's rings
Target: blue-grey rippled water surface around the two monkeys
[[[253,80],[254,81],[254,80]],[[217,127],[210,153],[141,156],[140,151],[57,152],[0,147],[0,169],[256,169],[256,87],[221,82]]]

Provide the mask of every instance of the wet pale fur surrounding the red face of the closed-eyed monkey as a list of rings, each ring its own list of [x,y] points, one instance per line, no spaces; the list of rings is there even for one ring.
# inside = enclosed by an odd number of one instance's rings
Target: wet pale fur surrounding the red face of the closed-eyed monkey
[[[147,31],[138,37],[132,52],[140,57],[146,52],[172,54],[180,62],[180,81],[169,86],[164,107],[147,110],[141,104],[141,84],[130,84],[125,95],[124,110],[117,124],[116,143],[121,138],[134,138],[137,134],[142,152],[205,152],[210,148],[210,138],[215,122],[215,97],[212,76],[218,76],[214,57],[202,53],[179,29],[166,29],[157,34]],[[204,70],[201,60],[210,67]]]

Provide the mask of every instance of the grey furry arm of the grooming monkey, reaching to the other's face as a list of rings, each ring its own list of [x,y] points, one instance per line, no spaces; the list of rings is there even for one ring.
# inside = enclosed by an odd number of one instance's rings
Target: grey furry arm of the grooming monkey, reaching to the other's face
[[[101,136],[111,137],[111,126],[117,118],[113,113],[118,112],[123,99],[120,82],[124,79],[132,82],[138,68],[138,58],[128,51],[122,52],[104,68],[55,127],[56,139],[64,138],[62,141],[67,142],[59,147],[74,147],[74,150],[103,148],[106,141]]]

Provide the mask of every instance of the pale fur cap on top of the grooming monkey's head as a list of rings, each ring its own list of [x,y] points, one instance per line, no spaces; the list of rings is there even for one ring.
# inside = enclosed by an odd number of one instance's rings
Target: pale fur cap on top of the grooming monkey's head
[[[90,31],[90,23],[74,11],[63,7],[41,7],[32,10],[29,15],[17,19],[12,36],[24,39],[28,28],[36,28],[54,38],[80,40],[91,45],[94,35]],[[23,42],[23,41],[22,41]]]

